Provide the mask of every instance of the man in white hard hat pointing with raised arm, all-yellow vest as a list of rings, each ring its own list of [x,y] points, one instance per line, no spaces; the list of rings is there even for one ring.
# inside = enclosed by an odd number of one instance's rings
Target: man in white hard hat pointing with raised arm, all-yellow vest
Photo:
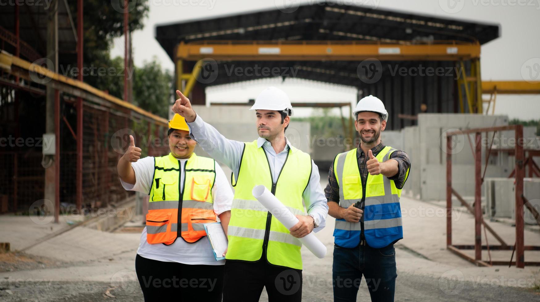
[[[177,93],[180,98],[173,111],[185,117],[192,138],[233,171],[224,301],[258,301],[263,287],[270,301],[301,301],[302,257],[297,238],[325,226],[328,204],[311,156],[285,137],[294,114],[287,94],[276,87],[262,91],[251,107],[259,138],[239,142],[226,139],[204,122],[190,100]],[[298,224],[287,229],[262,207],[251,193],[259,184],[298,217]]]

